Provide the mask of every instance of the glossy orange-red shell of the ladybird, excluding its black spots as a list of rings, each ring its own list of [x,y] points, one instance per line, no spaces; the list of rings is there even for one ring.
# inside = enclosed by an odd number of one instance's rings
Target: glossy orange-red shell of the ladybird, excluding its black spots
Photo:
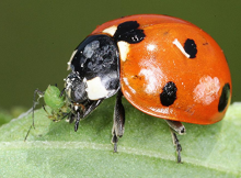
[[[211,124],[220,121],[231,99],[231,77],[218,44],[203,30],[181,19],[167,15],[131,15],[106,22],[92,34],[103,33],[126,21],[137,21],[145,40],[130,44],[126,60],[120,60],[120,85],[125,98],[140,111],[153,116]],[[173,44],[192,38],[197,45],[196,57],[187,58]],[[168,81],[177,87],[176,100],[164,107],[160,93]],[[230,97],[219,112],[219,98],[225,84]]]

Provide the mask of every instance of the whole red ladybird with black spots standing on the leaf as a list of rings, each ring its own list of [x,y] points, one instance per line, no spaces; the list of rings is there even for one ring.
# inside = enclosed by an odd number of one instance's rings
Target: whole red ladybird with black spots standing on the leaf
[[[73,51],[65,79],[74,131],[101,102],[116,94],[112,143],[124,134],[123,96],[138,110],[172,129],[177,163],[182,122],[220,121],[232,85],[222,49],[202,29],[168,15],[138,14],[97,26]],[[141,121],[140,121],[141,122]]]

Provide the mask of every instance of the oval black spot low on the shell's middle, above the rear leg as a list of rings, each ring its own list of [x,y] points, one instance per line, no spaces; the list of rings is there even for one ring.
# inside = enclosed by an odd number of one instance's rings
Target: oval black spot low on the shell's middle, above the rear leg
[[[176,99],[177,88],[173,81],[169,81],[162,88],[162,92],[160,93],[161,104],[164,107],[169,107],[174,103]]]

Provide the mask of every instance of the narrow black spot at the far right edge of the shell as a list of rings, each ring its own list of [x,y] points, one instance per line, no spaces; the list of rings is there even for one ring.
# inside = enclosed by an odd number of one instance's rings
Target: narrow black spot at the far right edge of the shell
[[[223,87],[222,87],[222,91],[221,91],[221,96],[219,98],[219,103],[218,103],[218,111],[222,112],[229,101],[229,97],[230,97],[230,85],[227,82]]]

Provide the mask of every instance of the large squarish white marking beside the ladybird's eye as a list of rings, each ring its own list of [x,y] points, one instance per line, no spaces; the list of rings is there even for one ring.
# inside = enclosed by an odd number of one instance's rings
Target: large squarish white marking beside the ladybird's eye
[[[99,100],[101,98],[107,97],[108,94],[108,91],[102,85],[100,77],[87,80],[87,87],[88,98],[90,100]]]

